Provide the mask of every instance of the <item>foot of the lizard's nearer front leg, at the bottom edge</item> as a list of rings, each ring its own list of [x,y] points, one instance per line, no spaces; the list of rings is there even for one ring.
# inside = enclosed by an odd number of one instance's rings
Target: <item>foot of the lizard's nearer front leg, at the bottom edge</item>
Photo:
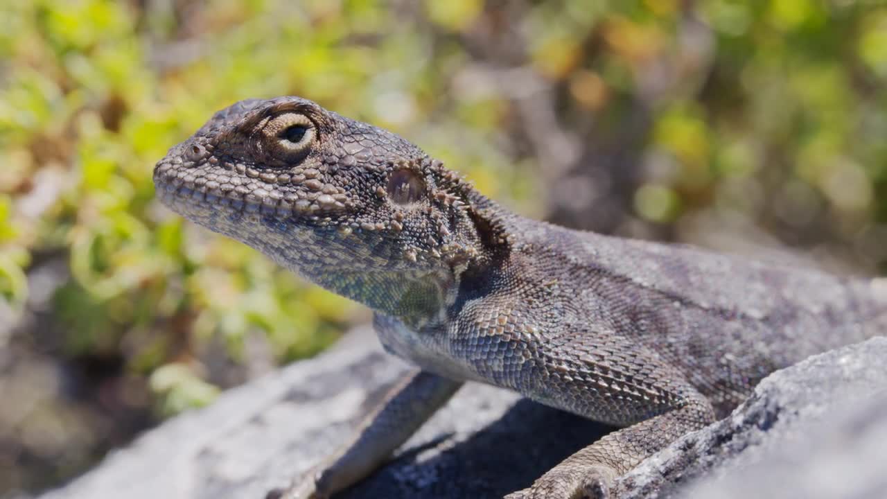
[[[554,468],[505,499],[608,499],[615,480],[616,471],[607,466]]]

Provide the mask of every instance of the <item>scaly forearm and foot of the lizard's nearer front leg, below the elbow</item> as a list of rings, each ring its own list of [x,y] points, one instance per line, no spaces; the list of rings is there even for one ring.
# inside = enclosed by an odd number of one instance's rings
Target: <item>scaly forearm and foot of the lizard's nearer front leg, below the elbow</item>
[[[570,455],[533,485],[506,499],[599,499],[611,496],[617,477],[687,432],[714,422],[702,395],[683,407],[613,432]]]

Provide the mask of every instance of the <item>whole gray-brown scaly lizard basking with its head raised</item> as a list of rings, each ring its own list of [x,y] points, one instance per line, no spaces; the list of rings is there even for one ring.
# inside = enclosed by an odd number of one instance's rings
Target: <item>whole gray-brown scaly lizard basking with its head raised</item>
[[[415,366],[347,443],[270,496],[321,498],[383,465],[462,384],[620,428],[507,495],[612,497],[759,380],[887,332],[887,281],[524,218],[400,136],[299,97],[241,100],[153,170],[184,218],[373,310]]]

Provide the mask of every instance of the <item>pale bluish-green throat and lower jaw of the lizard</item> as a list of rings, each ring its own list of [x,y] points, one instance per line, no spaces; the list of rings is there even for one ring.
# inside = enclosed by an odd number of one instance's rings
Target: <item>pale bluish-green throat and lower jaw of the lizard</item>
[[[412,328],[443,321],[455,299],[458,272],[404,261],[396,257],[399,245],[381,234],[340,231],[321,218],[282,215],[187,186],[156,184],[161,202],[184,218],[244,242],[303,278]]]

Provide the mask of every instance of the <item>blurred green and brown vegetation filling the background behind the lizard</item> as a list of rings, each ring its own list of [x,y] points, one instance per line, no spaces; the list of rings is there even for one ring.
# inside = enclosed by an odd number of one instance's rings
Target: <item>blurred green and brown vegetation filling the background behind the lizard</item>
[[[877,273],[885,88],[881,0],[5,0],[0,497],[368,318],[154,201],[233,101],[317,100],[562,225]]]

